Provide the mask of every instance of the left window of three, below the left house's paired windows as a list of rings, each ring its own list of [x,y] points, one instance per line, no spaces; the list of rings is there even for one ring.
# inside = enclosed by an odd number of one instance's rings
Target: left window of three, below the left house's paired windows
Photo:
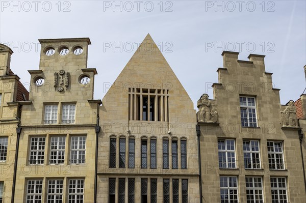
[[[30,164],[44,163],[45,137],[32,137],[30,146]]]

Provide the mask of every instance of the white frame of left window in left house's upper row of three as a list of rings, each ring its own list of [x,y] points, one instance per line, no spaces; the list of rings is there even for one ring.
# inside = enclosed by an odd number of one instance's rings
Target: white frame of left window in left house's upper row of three
[[[35,149],[32,150],[32,143],[33,143],[33,139],[37,138],[37,145],[34,146]],[[44,145],[40,145],[40,142],[44,142]],[[29,164],[30,165],[37,165],[37,164],[44,164],[44,156],[45,156],[45,146],[46,146],[46,137],[31,137],[30,139],[30,155],[29,155]],[[42,149],[39,149],[39,148]],[[36,152],[35,155],[35,159],[31,159],[31,154]],[[39,157],[39,152],[41,152],[41,155],[43,157],[43,159],[38,159]],[[31,161],[35,162],[35,163],[31,163]],[[38,163],[39,161],[41,161],[40,163]]]

